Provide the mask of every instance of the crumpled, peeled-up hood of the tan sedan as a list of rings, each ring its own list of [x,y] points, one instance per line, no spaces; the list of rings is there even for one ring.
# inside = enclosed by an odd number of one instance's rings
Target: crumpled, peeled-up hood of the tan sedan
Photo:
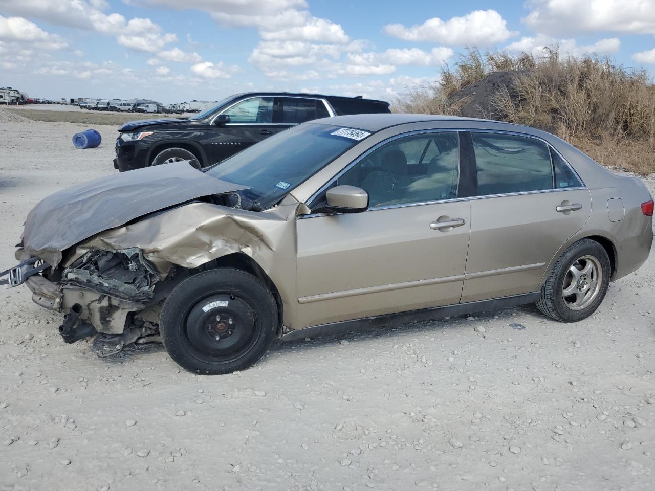
[[[107,175],[39,202],[25,222],[23,247],[56,266],[62,251],[98,232],[194,198],[247,188],[200,172],[187,161]]]

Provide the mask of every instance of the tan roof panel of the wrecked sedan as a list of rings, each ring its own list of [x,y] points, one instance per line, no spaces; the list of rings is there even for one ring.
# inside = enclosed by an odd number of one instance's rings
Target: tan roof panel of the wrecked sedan
[[[321,118],[316,119],[312,122],[320,124],[331,124],[333,126],[349,126],[351,128],[357,128],[358,130],[365,130],[368,132],[378,132],[384,128],[390,128],[391,126],[398,126],[399,124],[408,124],[415,122],[485,122],[487,124],[492,123],[498,125],[498,129],[503,126],[508,128],[523,128],[524,130],[529,129],[535,131],[529,126],[521,126],[518,124],[493,121],[489,119],[479,119],[479,118],[464,118],[459,116],[448,116],[448,115],[425,115],[425,114],[405,114],[405,113],[381,113],[381,114],[356,114],[356,115],[346,115],[346,116],[335,116],[331,118]]]

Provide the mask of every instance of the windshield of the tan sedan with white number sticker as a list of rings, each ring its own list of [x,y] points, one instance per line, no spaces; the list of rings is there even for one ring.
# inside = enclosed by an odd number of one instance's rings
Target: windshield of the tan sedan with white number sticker
[[[359,139],[369,135],[357,133]],[[343,134],[339,126],[301,124],[223,160],[207,173],[223,181],[250,186],[252,189],[239,194],[266,209],[358,143],[359,139]]]

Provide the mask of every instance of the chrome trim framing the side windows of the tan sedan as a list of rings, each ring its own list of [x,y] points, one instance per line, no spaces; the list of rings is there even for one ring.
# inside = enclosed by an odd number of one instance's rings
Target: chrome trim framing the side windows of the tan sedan
[[[504,130],[481,130],[478,128],[472,129],[472,128],[434,128],[430,130],[415,130],[413,132],[407,132],[407,133],[402,133],[398,135],[394,135],[386,140],[380,141],[379,143],[376,143],[373,145],[373,147],[369,148],[367,151],[362,153],[362,155],[358,156],[355,160],[350,162],[345,168],[343,168],[341,171],[339,171],[336,175],[334,175],[329,181],[327,181],[326,184],[322,185],[318,189],[318,191],[314,192],[312,196],[310,196],[309,200],[307,200],[307,203],[311,203],[313,200],[315,200],[322,192],[326,191],[326,189],[336,180],[341,177],[345,172],[350,170],[352,166],[360,162],[360,160],[364,159],[367,155],[369,155],[371,152],[375,151],[382,145],[386,145],[386,143],[390,143],[391,141],[394,141],[398,138],[406,137],[406,136],[413,136],[416,134],[425,134],[425,133],[453,133],[453,132],[470,132],[470,133],[495,133],[495,134],[507,134],[507,135],[514,135],[514,136],[523,136],[527,138],[532,138],[536,139],[538,141],[541,141],[544,143],[548,149],[552,149],[559,157],[569,166],[569,169],[578,177],[580,180],[580,183],[582,183],[581,186],[577,187],[566,187],[566,188],[553,188],[553,189],[539,189],[536,191],[520,191],[520,192],[507,192],[503,194],[483,194],[481,196],[466,196],[463,198],[451,198],[448,200],[436,200],[436,201],[427,201],[427,202],[419,202],[419,203],[402,203],[402,204],[393,204],[393,205],[386,205],[386,206],[377,206],[375,208],[368,208],[365,211],[362,211],[362,213],[366,213],[367,211],[376,211],[379,209],[390,209],[390,208],[407,208],[408,206],[424,206],[428,204],[437,204],[437,203],[451,203],[451,202],[458,202],[458,201],[466,201],[466,200],[481,200],[481,199],[489,199],[489,198],[502,198],[506,196],[520,196],[520,195],[525,195],[525,194],[541,194],[545,192],[565,192],[565,191],[574,191],[574,190],[579,190],[579,189],[587,189],[587,186],[585,185],[584,181],[582,180],[582,177],[576,172],[576,170],[569,164],[569,161],[564,158],[553,145],[548,143],[545,139],[542,137],[534,136],[534,135],[529,135],[521,132],[512,132],[512,131],[504,131]],[[553,175],[554,175],[554,170],[553,170]],[[459,182],[457,183],[459,187]],[[309,206],[309,205],[308,205]],[[305,218],[314,218],[314,217],[326,217],[326,216],[334,216],[334,215],[343,215],[345,213],[308,213],[307,215],[298,215],[297,219],[305,219]]]

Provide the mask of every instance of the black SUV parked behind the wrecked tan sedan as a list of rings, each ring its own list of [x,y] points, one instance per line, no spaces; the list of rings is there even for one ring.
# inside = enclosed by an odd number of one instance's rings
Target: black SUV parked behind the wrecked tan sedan
[[[190,118],[132,121],[119,128],[114,167],[119,171],[196,160],[206,167],[253,143],[312,119],[390,113],[389,103],[370,99],[249,92],[231,96]]]

